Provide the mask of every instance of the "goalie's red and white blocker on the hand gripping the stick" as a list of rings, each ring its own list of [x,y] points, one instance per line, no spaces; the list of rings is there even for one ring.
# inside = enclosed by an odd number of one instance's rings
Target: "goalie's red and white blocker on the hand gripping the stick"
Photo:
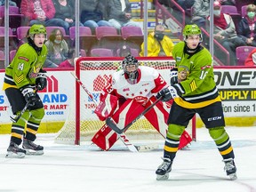
[[[94,113],[100,121],[105,121],[108,116],[112,116],[116,110],[118,98],[108,93],[100,93],[100,104],[95,108]]]

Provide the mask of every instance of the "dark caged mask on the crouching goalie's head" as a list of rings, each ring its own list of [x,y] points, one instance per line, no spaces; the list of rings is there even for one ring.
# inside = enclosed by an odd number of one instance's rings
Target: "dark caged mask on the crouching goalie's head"
[[[134,70],[132,70],[134,67]],[[130,80],[137,79],[139,63],[132,55],[128,55],[124,58],[122,62],[122,68],[124,69],[124,73],[129,77]]]

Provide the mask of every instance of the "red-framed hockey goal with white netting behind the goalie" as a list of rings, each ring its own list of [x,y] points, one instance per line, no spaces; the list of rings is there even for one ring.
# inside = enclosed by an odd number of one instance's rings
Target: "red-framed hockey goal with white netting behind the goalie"
[[[88,58],[82,57],[76,60],[76,76],[92,93],[93,99],[100,102],[100,91],[106,86],[108,80],[124,58]],[[141,57],[138,58],[140,65],[156,68],[169,84],[170,69],[175,65],[172,58],[166,57]],[[74,99],[69,105],[68,118],[58,132],[55,142],[80,144],[80,141],[89,141],[100,130],[105,122],[102,122],[93,113],[96,105],[80,84],[76,83]],[[170,108],[165,106],[169,111]],[[186,131],[196,140],[196,118],[188,124]],[[125,132],[132,140],[163,140],[156,129],[144,117]]]

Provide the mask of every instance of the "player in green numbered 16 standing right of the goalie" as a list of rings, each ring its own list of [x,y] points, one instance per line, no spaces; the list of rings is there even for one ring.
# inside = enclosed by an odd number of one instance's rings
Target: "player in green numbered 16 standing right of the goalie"
[[[224,169],[231,180],[236,180],[234,151],[225,131],[220,95],[213,76],[212,56],[200,43],[201,29],[186,25],[184,42],[176,44],[172,56],[176,67],[171,70],[171,86],[157,93],[157,98],[174,99],[168,119],[164,143],[164,162],[156,170],[156,180],[167,180],[178,151],[180,134],[197,113],[220,151]]]

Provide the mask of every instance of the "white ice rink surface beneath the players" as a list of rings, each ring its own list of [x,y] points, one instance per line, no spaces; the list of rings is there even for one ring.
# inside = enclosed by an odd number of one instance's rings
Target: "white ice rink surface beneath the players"
[[[140,153],[122,146],[106,152],[89,143],[56,144],[54,134],[38,134],[36,143],[44,146],[44,156],[10,159],[4,157],[10,135],[0,135],[0,192],[256,192],[256,127],[228,127],[227,132],[236,155],[235,181],[228,180],[204,128],[197,129],[190,150],[177,153],[164,181],[157,181],[155,174],[163,145]]]

